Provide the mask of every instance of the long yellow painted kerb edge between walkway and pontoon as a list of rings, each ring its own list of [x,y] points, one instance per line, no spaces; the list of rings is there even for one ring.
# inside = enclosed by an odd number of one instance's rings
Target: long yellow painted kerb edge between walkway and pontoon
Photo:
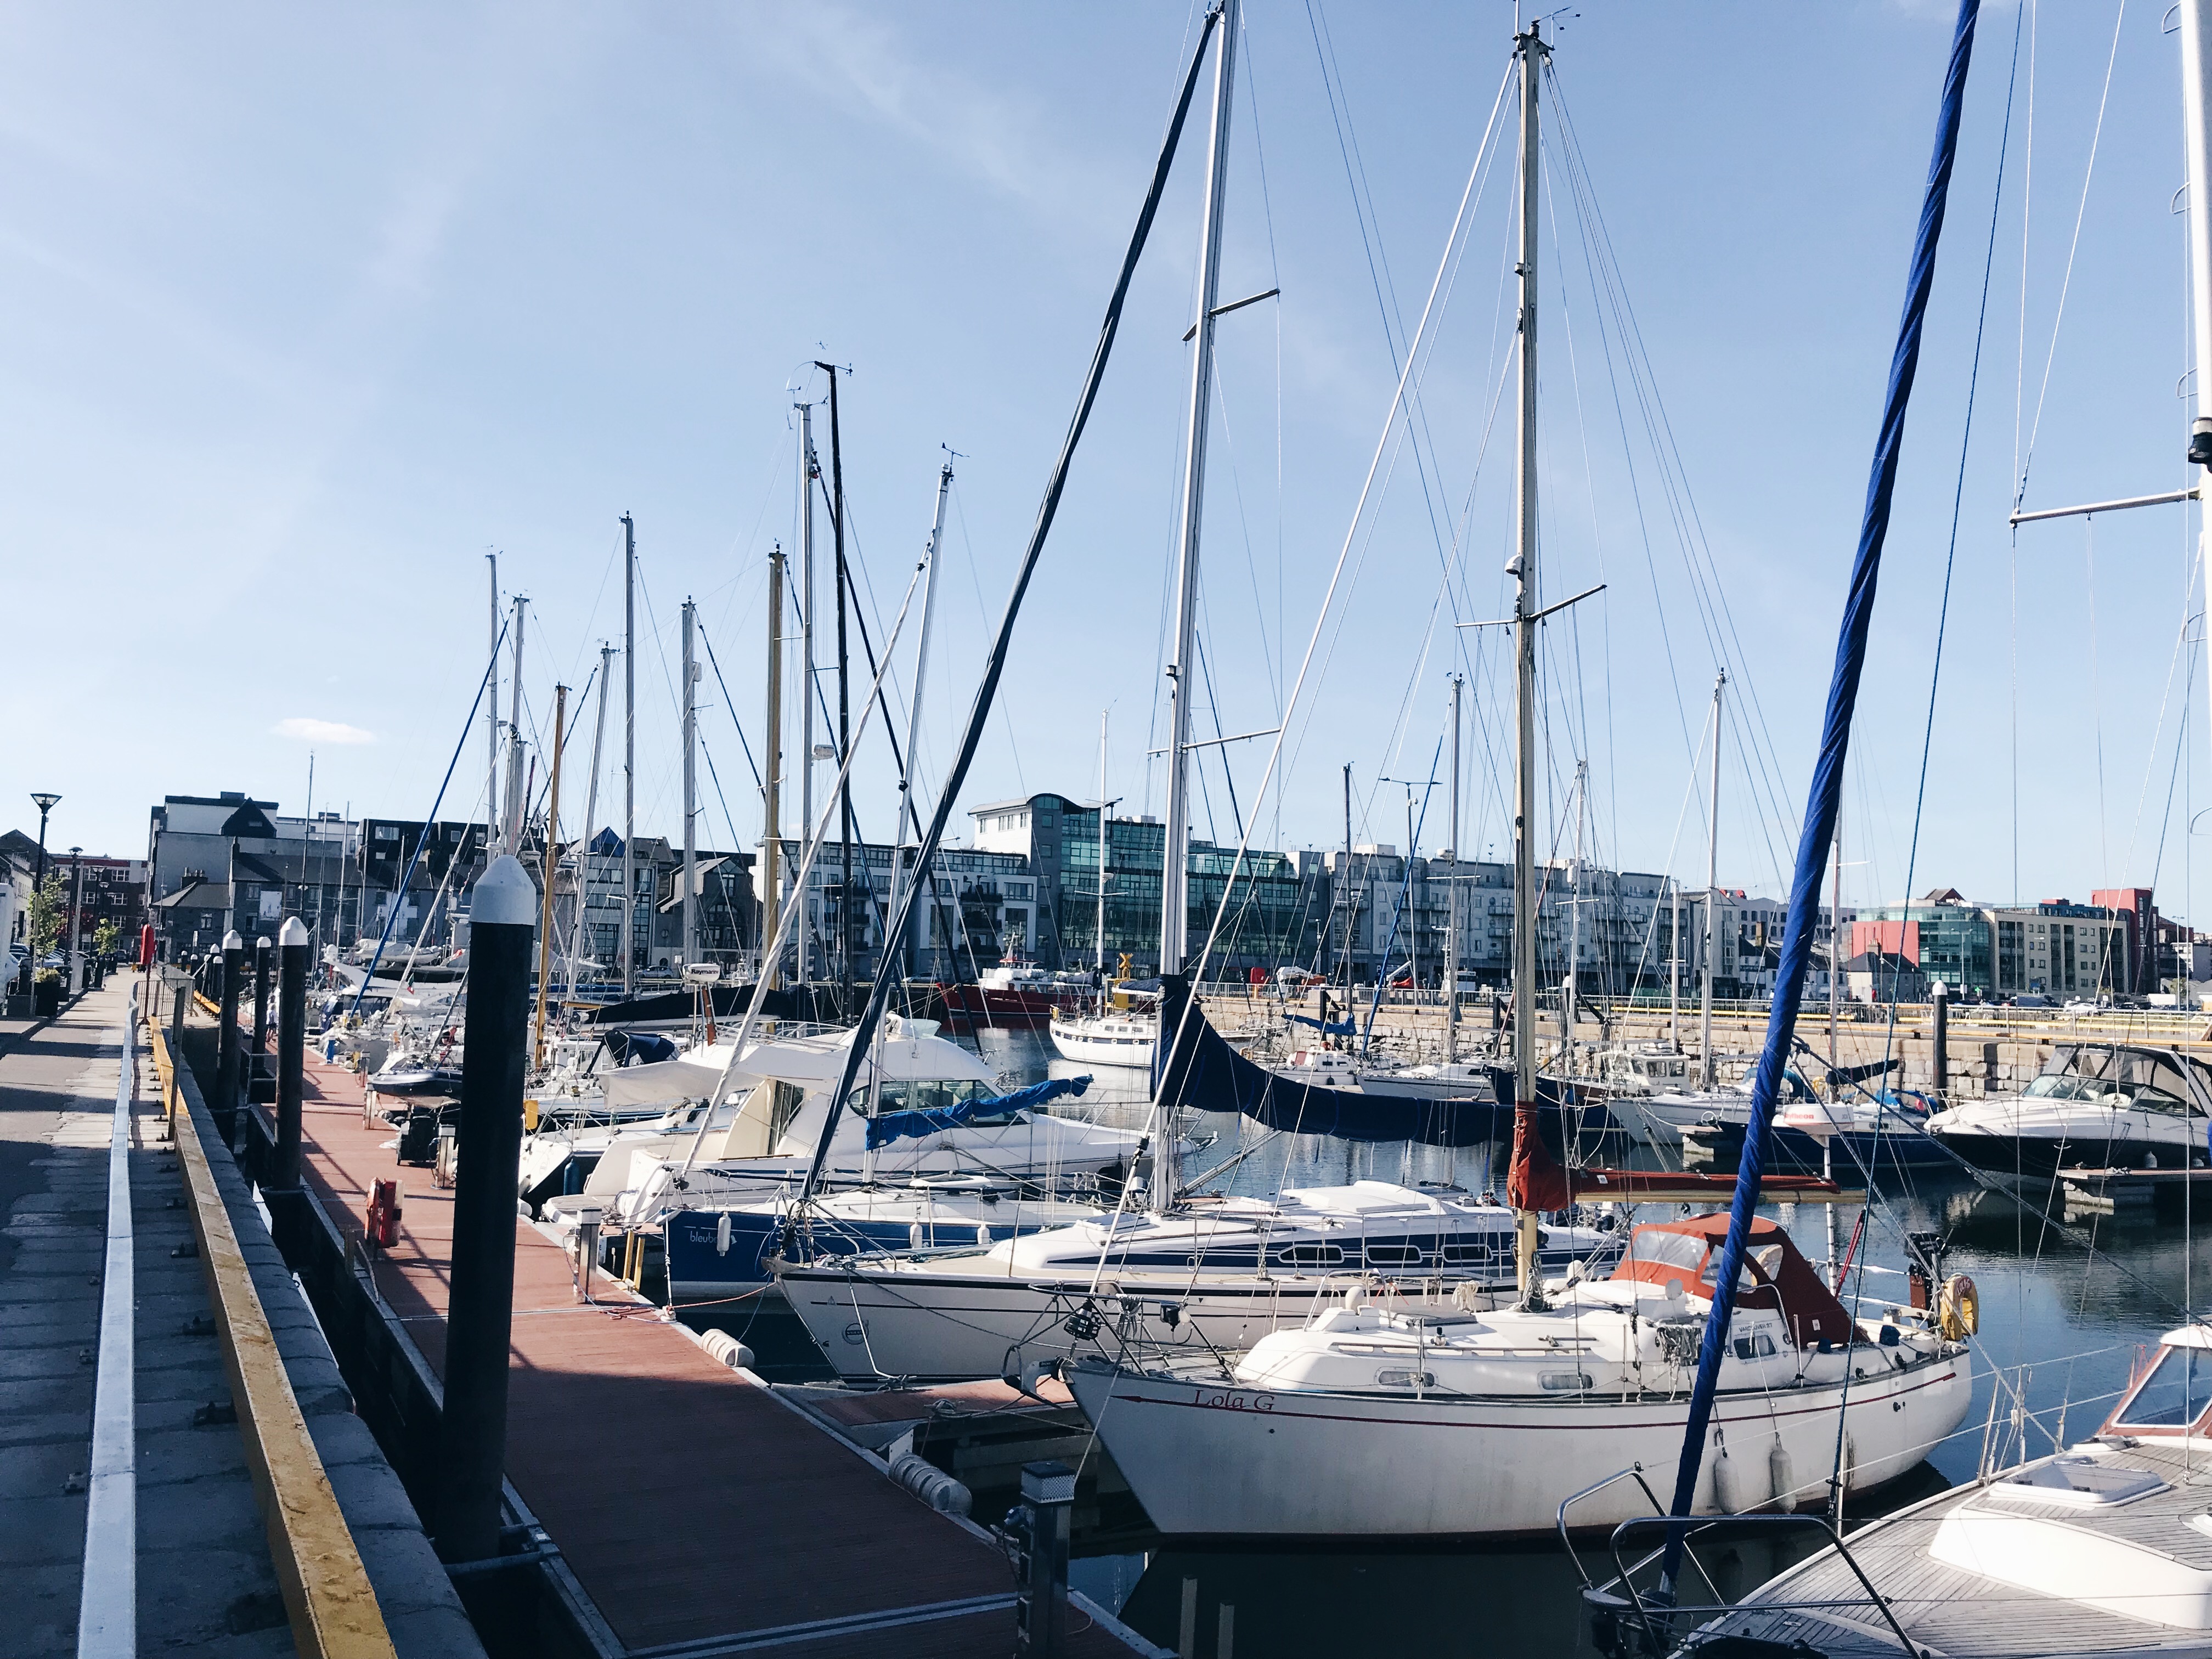
[[[155,1022],[148,1022],[148,1033],[166,1093],[175,1071],[168,1042]],[[239,1405],[239,1436],[246,1440],[246,1462],[268,1522],[285,1610],[292,1615],[292,1641],[301,1659],[394,1659],[376,1588],[307,1433],[307,1418],[292,1394],[276,1336],[188,1110],[177,1110],[175,1137],[192,1232],[199,1237],[199,1265],[208,1274],[208,1298],[223,1340],[223,1369],[230,1371],[230,1391]]]

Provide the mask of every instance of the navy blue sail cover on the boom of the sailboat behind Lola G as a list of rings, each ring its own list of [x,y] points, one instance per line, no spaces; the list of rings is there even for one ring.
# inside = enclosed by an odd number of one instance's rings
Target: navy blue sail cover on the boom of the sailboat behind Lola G
[[[1190,1018],[1183,1018],[1188,1009]],[[1152,1088],[1161,1106],[1201,1113],[1243,1113],[1287,1135],[1334,1135],[1347,1141],[1420,1141],[1425,1146],[1482,1146],[1511,1133],[1513,1117],[1495,1099],[1413,1099],[1321,1088],[1267,1071],[1223,1042],[1190,1002],[1190,982],[1161,978],[1159,1029],[1172,1033],[1166,1053],[1155,1044]]]

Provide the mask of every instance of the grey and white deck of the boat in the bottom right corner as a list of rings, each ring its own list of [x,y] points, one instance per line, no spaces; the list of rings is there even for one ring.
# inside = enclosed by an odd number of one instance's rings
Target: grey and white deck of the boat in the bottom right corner
[[[2172,1484],[2104,1515],[2057,1513],[2051,1520],[2212,1571],[2212,1537],[2188,1524],[2212,1504],[2212,1458],[2201,1447],[2190,1455],[2174,1444],[2139,1442],[2112,1462],[2152,1469]],[[2212,1630],[2183,1630],[2128,1617],[1933,1559],[1929,1544],[1936,1528],[1980,1495],[1982,1486],[1958,1486],[1845,1540],[1851,1557],[1918,1646],[1949,1659],[1984,1655],[2033,1659],[2064,1652],[2212,1655]],[[1761,1601],[1794,1604],[1794,1610],[1761,1610]],[[1834,1551],[1823,1551],[1783,1573],[1701,1635],[1721,1632],[1778,1644],[1805,1641],[1829,1659],[1858,1659],[1858,1655],[1893,1659],[1898,1652],[1898,1639],[1882,1621],[1880,1608],[1867,1599],[1858,1577]],[[1692,1646],[1686,1652],[1694,1650]]]

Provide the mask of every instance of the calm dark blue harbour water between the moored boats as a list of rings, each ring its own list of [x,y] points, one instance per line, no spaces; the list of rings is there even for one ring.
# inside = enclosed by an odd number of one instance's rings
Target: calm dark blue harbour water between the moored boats
[[[1009,1084],[1046,1075],[1077,1075],[1040,1033],[984,1033],[984,1060]],[[1071,1115],[1137,1126],[1146,1115],[1144,1073],[1095,1071],[1091,1091],[1060,1108]],[[1234,1117],[1208,1117],[1201,1133],[1212,1146],[1186,1164],[1186,1177],[1212,1168],[1259,1139]],[[1321,1137],[1274,1137],[1228,1179],[1234,1192],[1272,1192],[1279,1186],[1332,1186],[1354,1179],[1458,1181],[1480,1192],[1493,1177],[1493,1148],[1451,1152],[1429,1146],[1363,1146]],[[1504,1159],[1495,1159],[1504,1181]],[[1916,1475],[1869,1500],[1865,1515],[1918,1502],[1958,1480],[1971,1480],[1984,1436],[2004,1460],[2051,1451],[2053,1440],[2095,1433],[2143,1345],[2183,1321],[2197,1285],[2212,1296],[2212,1217],[2157,1219],[2121,1214],[2079,1219],[2062,1230],[2026,1214],[2011,1199],[1986,1194],[1960,1175],[1900,1172],[1880,1181],[1887,1206],[1869,1212],[1860,1259],[1863,1296],[1871,1305],[1905,1296],[1905,1230],[1942,1232],[1951,1245],[1949,1272],[1971,1274],[1982,1294],[1982,1334],[1975,1354],[1973,1409],[1960,1431],[1929,1451]],[[2212,1210],[2212,1194],[2205,1199]],[[1767,1210],[1790,1228],[1814,1261],[1829,1254],[1827,1214],[1814,1206]],[[1655,1217],[1646,1217],[1655,1219]],[[1838,1214],[1847,1230],[1854,1210]],[[787,1316],[785,1316],[787,1321]],[[792,1321],[796,1325],[796,1321]],[[734,1325],[732,1325],[734,1327]],[[812,1349],[770,1321],[754,1321],[748,1338],[763,1369],[803,1376]],[[2004,1394],[1995,1420],[1993,1371],[2024,1396],[2013,1427],[2013,1396]],[[1327,1469],[1314,1471],[1327,1480]],[[1655,1482],[1661,1493],[1672,1471]],[[978,1520],[991,1520],[993,1498],[978,1493]],[[993,1511],[993,1513],[987,1513]],[[1854,1515],[1860,1511],[1854,1509]],[[1183,1582],[1197,1579],[1199,1655],[1212,1659],[1217,1608],[1237,1608],[1237,1652],[1248,1659],[1340,1659],[1343,1655],[1575,1655],[1584,1641],[1579,1579],[1557,1546],[1500,1548],[1164,1548],[1135,1506],[1113,1502],[1077,1511],[1073,1584],[1152,1641],[1177,1641]],[[1586,1555],[1604,1546],[1586,1548]],[[1787,1559],[1774,1546],[1750,1542],[1719,1562],[1723,1590],[1736,1595]],[[1734,1582],[1728,1582],[1734,1579]]]

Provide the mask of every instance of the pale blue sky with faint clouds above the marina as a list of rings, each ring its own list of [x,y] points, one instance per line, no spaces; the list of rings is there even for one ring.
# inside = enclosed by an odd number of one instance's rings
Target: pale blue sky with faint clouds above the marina
[[[27,794],[55,790],[51,845],[128,854],[164,794],[303,810],[310,757],[316,810],[420,818],[453,768],[440,816],[473,816],[489,551],[529,597],[524,728],[551,745],[555,681],[582,706],[573,825],[630,513],[637,827],[681,836],[692,597],[714,653],[699,841],[752,845],[794,403],[830,460],[816,361],[841,372],[878,650],[953,456],[916,768],[933,801],[1199,20],[1188,0],[0,9],[0,825],[35,830]],[[1606,584],[1544,630],[1546,852],[1579,825],[1590,858],[1703,880],[1725,666],[1717,867],[1781,891],[1951,22],[1907,0],[1584,0],[1546,22],[1542,593]],[[1356,841],[1449,845],[1460,672],[1460,847],[1506,854],[1504,635],[1453,624],[1511,608],[1511,31],[1495,2],[1245,0],[1219,285],[1281,294],[1217,332],[1194,723],[1290,717],[1265,787],[1272,737],[1203,752],[1201,836],[1340,845],[1349,763]],[[1146,752],[1208,97],[956,832],[991,799],[1095,799],[1102,712],[1106,792],[1164,810]],[[2192,909],[2197,792],[2212,803],[2194,509],[2006,529],[2022,478],[2028,509],[2188,482],[2181,181],[2154,7],[1984,7],[1847,902],[2154,883]],[[816,538],[834,708],[825,515]],[[889,679],[900,739],[918,611]],[[617,684],[599,825],[619,823],[619,730]],[[885,838],[880,719],[854,787]]]

